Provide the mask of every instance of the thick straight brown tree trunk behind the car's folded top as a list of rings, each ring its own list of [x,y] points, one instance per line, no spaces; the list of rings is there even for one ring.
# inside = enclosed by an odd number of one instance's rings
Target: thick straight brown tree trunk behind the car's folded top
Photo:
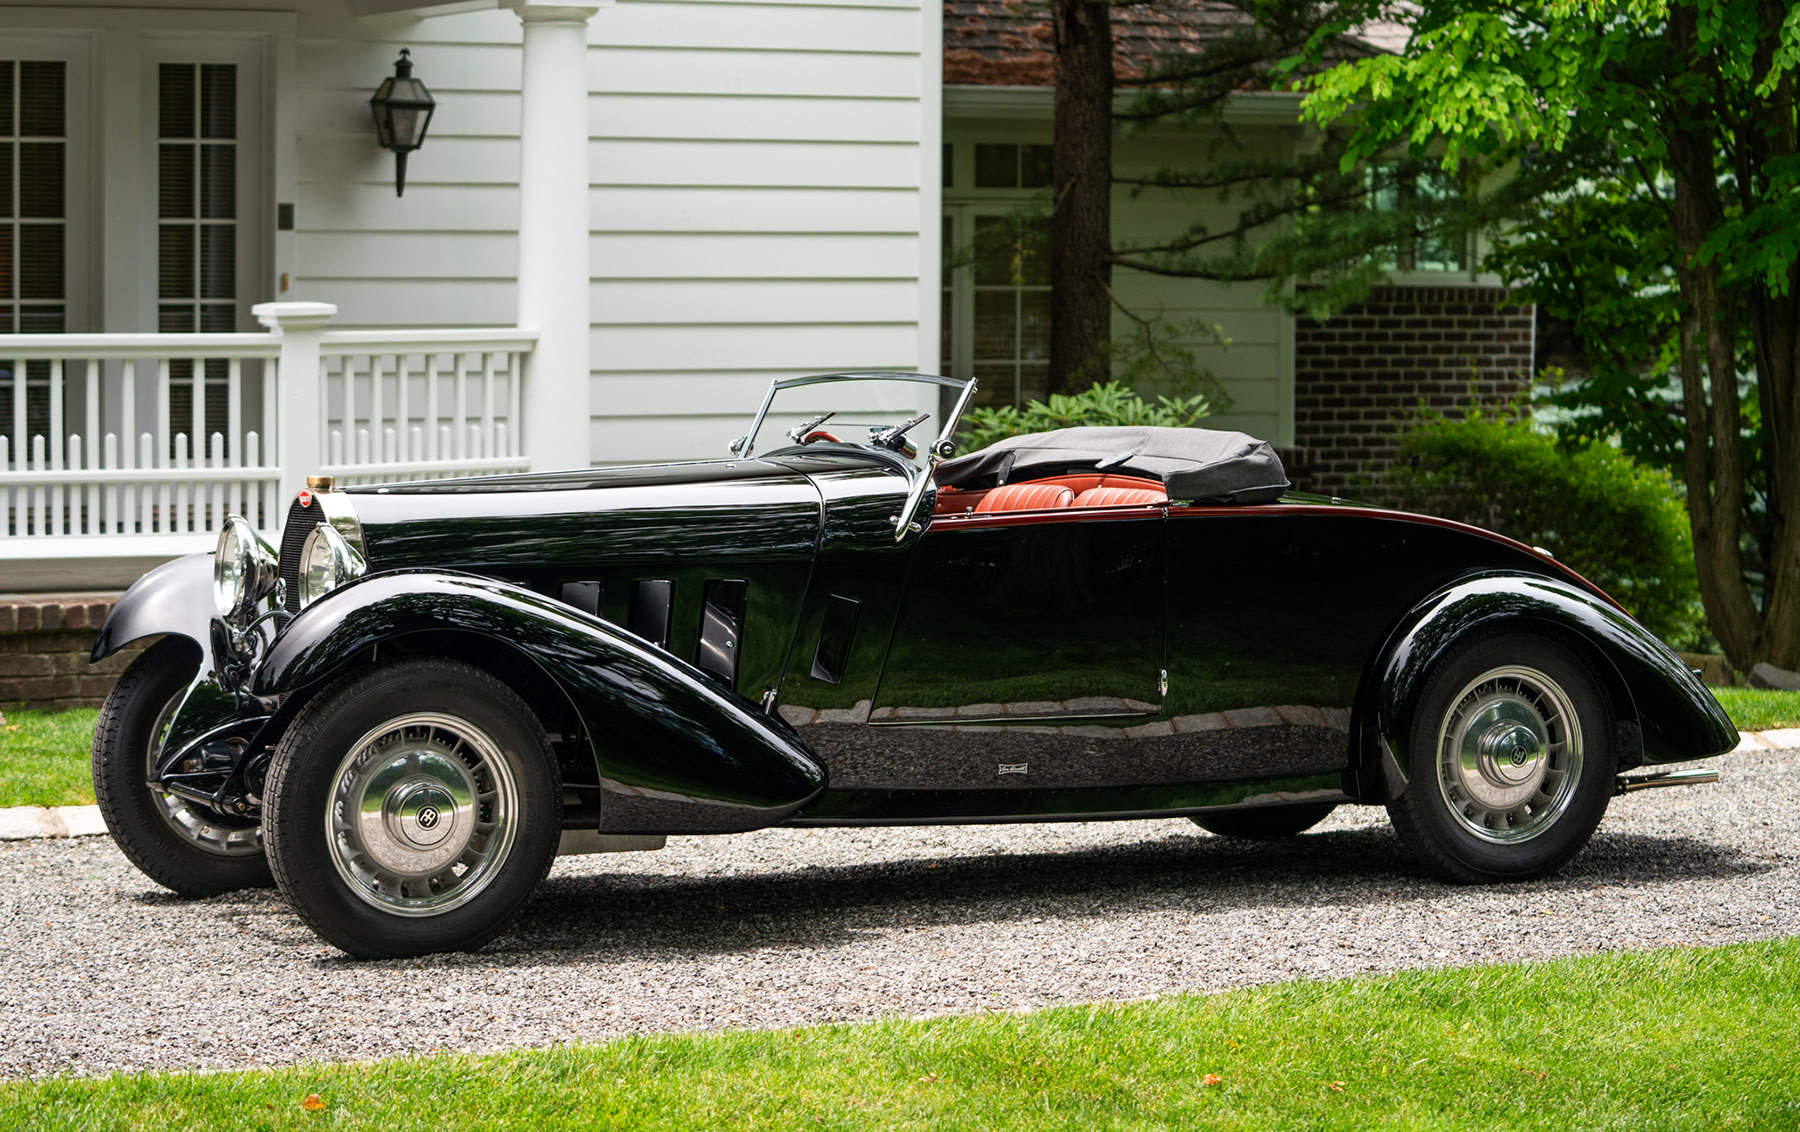
[[[1053,0],[1057,117],[1051,151],[1049,391],[1107,378],[1112,252],[1112,9]]]

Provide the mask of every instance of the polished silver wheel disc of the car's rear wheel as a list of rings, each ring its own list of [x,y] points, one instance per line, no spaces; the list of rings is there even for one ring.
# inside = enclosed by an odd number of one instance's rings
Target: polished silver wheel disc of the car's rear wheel
[[[1462,689],[1438,727],[1438,790],[1481,840],[1516,844],[1552,828],[1580,781],[1580,718],[1535,668],[1494,668]]]

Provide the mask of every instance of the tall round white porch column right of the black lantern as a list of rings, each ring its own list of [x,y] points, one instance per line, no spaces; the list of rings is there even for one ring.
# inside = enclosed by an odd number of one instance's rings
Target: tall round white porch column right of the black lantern
[[[518,326],[524,452],[533,472],[587,468],[587,22],[610,0],[509,0],[526,25],[518,130]]]

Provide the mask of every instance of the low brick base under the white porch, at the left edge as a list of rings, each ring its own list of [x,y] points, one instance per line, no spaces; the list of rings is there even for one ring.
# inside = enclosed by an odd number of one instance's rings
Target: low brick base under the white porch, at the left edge
[[[88,664],[117,594],[0,597],[0,705],[97,707],[144,644]]]

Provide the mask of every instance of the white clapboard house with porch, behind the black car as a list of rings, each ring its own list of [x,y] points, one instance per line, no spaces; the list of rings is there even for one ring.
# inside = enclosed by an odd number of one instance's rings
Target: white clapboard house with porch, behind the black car
[[[772,376],[1030,396],[1044,283],[941,263],[1040,191],[1048,72],[956,4],[0,4],[0,592],[122,587],[230,511],[274,531],[317,472],[724,455]],[[405,194],[369,104],[401,49],[436,99]],[[1294,113],[1233,124],[1305,144]],[[1224,324],[1224,423],[1296,443],[1258,286],[1120,286]]]

